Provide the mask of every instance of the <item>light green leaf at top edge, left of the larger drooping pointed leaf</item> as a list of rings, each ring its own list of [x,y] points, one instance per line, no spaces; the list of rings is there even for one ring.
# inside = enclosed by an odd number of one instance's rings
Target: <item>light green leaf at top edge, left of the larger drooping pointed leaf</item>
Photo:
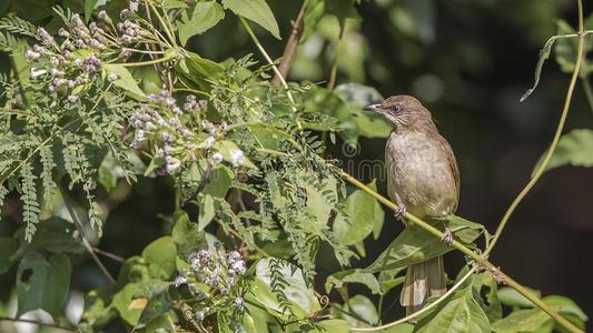
[[[185,47],[190,37],[204,33],[224,18],[225,10],[216,1],[197,2],[191,13],[188,14],[187,11],[181,13],[181,21],[178,24],[181,46]]]

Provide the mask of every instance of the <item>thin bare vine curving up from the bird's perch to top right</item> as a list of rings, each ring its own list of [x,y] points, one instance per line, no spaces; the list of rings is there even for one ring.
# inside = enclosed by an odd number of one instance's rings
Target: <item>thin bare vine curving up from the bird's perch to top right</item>
[[[571,101],[574,92],[574,87],[576,84],[576,80],[579,79],[579,72],[581,70],[581,62],[583,61],[583,49],[585,43],[585,30],[583,24],[583,4],[582,0],[577,0],[579,6],[579,50],[576,53],[576,62],[574,65],[574,71],[572,73],[571,83],[569,84],[569,90],[566,92],[566,98],[564,100],[564,108],[562,109],[562,114],[560,117],[559,125],[556,128],[556,133],[554,134],[554,139],[552,140],[552,144],[550,144],[550,149],[545,153],[544,160],[542,161],[542,164],[540,164],[540,168],[535,171],[532,179],[527,182],[525,188],[517,194],[515,200],[511,203],[508,209],[503,215],[503,219],[501,220],[501,223],[498,224],[498,229],[496,229],[496,232],[494,233],[494,236],[492,239],[492,242],[490,243],[490,246],[486,248],[484,251],[484,256],[487,258],[487,255],[491,253],[492,249],[494,249],[494,245],[496,245],[496,242],[501,238],[502,232],[504,231],[504,228],[506,226],[506,223],[508,222],[508,219],[511,219],[511,215],[517,208],[517,205],[521,203],[521,201],[527,195],[527,193],[533,189],[535,183],[540,180],[542,174],[547,168],[547,164],[550,164],[550,160],[552,159],[552,155],[554,154],[554,151],[556,150],[556,147],[560,141],[560,137],[562,135],[562,131],[564,129],[564,123],[566,122],[566,115],[569,114],[569,109],[571,107]]]

